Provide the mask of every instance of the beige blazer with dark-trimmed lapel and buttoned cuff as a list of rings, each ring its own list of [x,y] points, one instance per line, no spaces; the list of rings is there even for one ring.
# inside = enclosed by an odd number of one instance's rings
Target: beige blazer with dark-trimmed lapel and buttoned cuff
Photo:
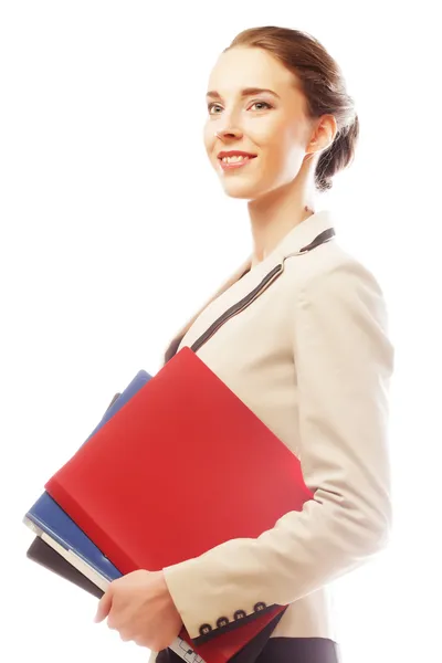
[[[298,253],[330,227],[336,238]],[[336,642],[330,583],[389,540],[394,350],[378,282],[338,238],[329,211],[313,214],[263,262],[241,265],[169,348],[168,357],[192,346],[281,266],[278,277],[228,316],[197,354],[299,457],[314,499],[257,539],[230,540],[165,568],[196,642],[274,604],[288,608],[272,638]]]

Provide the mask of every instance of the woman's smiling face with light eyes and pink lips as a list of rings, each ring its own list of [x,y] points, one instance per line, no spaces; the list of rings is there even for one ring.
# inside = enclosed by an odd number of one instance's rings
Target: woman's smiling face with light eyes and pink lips
[[[296,83],[262,49],[235,46],[219,57],[209,78],[204,145],[228,196],[256,199],[297,176],[313,124]],[[222,152],[235,150],[253,158],[221,162]]]

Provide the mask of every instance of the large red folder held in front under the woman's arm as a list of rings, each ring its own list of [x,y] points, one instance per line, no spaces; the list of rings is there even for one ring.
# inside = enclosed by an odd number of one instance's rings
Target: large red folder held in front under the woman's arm
[[[233,538],[256,538],[313,493],[296,456],[183,348],[46,483],[123,572],[159,570]],[[285,607],[194,644],[224,663]]]

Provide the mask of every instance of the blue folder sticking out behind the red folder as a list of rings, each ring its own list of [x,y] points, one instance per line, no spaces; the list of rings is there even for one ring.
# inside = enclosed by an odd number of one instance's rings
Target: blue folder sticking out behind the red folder
[[[151,376],[145,370],[138,371],[126,389],[120,394],[114,397],[114,400],[106,410],[102,421],[87,440],[90,440],[115,414],[115,412],[123,408],[123,406],[125,406],[127,401],[150,380],[150,378]],[[84,443],[86,443],[87,440]],[[45,536],[43,536],[43,538],[46,543],[52,545],[55,541],[55,544],[59,544],[64,550],[70,554],[72,552],[74,558],[80,558],[80,560],[86,562],[87,567],[106,581],[110,582],[122,576],[120,571],[103,555],[99,548],[95,546],[95,544],[46,492],[44,492],[29,509],[23,520],[25,525],[36,532],[39,536],[44,534]],[[28,557],[49,568],[50,565],[52,566],[52,561],[50,562],[49,560],[54,559],[54,556],[52,552],[49,552],[49,550],[44,554],[44,550],[45,546],[42,546],[39,541],[36,544],[34,541],[28,551]],[[39,559],[40,554],[42,559]],[[55,568],[53,570],[59,572]],[[64,575],[64,577],[72,580],[67,570],[66,573],[60,572],[60,575]]]

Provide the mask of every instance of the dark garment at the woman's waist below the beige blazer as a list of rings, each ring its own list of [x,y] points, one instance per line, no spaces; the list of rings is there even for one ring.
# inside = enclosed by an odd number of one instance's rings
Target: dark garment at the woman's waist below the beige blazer
[[[271,638],[257,657],[239,652],[241,663],[339,663],[338,646],[326,638]],[[231,660],[235,663],[236,656]],[[162,650],[156,663],[182,663],[183,660],[171,650]]]

